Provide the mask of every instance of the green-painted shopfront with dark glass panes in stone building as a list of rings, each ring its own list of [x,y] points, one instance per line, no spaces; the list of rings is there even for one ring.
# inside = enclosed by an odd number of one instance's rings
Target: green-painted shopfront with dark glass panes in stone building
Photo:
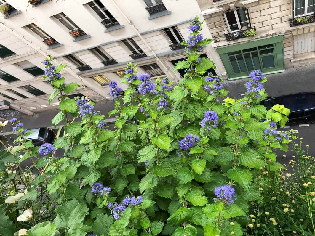
[[[229,79],[246,77],[253,70],[263,73],[283,70],[282,39],[277,36],[217,49]]]

